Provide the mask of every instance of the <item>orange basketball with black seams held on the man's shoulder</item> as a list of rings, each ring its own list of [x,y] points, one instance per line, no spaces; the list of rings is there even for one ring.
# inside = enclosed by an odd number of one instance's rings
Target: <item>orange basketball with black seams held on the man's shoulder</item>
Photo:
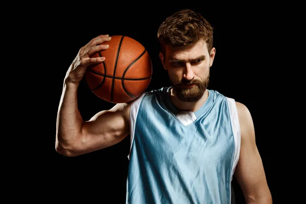
[[[152,77],[152,62],[145,47],[127,36],[111,36],[109,48],[91,57],[105,61],[91,65],[85,73],[86,83],[99,98],[110,103],[127,103],[148,87]]]

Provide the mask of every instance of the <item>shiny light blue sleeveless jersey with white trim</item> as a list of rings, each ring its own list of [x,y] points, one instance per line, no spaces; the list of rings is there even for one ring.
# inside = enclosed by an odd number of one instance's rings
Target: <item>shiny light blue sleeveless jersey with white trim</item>
[[[198,111],[182,112],[170,88],[132,103],[126,203],[230,203],[240,151],[235,100],[208,90]]]

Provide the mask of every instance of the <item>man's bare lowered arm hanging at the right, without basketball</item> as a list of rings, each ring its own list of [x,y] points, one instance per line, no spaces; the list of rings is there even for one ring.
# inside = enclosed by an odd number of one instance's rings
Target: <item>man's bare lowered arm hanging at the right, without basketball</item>
[[[246,203],[272,203],[272,196],[259,154],[254,125],[247,107],[236,102],[240,132],[240,157],[235,169],[235,177],[244,194]]]

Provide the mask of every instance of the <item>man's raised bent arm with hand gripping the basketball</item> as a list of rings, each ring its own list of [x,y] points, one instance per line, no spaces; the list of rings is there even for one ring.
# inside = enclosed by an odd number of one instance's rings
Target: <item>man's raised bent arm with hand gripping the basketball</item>
[[[111,110],[95,114],[83,121],[78,110],[77,90],[90,64],[101,63],[105,58],[90,58],[108,46],[99,45],[108,41],[106,35],[92,39],[82,47],[70,65],[63,86],[57,117],[56,150],[67,157],[103,149],[123,140],[130,131],[130,104],[116,104]]]

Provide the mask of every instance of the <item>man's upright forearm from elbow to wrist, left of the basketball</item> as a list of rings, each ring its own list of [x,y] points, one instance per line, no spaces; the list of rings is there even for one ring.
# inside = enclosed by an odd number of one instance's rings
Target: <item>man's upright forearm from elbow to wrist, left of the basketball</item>
[[[57,115],[56,149],[63,151],[79,138],[83,124],[78,109],[78,84],[64,82]],[[61,153],[61,152],[60,152]]]

